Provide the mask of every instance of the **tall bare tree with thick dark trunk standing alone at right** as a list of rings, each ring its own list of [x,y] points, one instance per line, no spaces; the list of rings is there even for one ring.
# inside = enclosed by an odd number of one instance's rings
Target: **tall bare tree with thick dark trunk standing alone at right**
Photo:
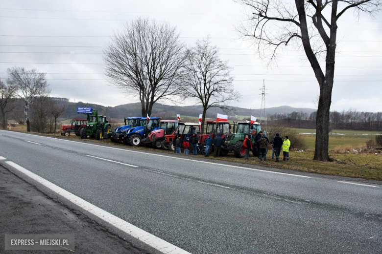
[[[380,11],[381,0],[235,0],[250,8],[249,27],[242,33],[255,40],[260,52],[271,51],[289,43],[302,44],[314,71],[320,96],[316,118],[314,160],[329,158],[329,115],[334,83],[334,60],[337,46],[337,21],[348,10],[371,15]],[[248,29],[249,28],[249,29]],[[325,55],[324,66],[319,63]]]

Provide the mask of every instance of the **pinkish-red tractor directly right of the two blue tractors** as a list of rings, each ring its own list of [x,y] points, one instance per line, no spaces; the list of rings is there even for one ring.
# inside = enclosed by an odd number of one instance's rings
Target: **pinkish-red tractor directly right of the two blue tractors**
[[[158,129],[151,131],[147,138],[142,140],[142,143],[146,147],[154,147],[157,149],[162,148],[162,144],[165,140],[165,135],[174,134],[175,130],[178,128],[178,120],[161,120]]]

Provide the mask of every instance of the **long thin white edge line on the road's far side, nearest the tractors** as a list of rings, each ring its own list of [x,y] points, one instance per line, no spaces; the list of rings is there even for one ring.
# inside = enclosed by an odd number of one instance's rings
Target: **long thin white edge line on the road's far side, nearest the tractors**
[[[16,133],[16,132],[15,132],[15,133]],[[24,134],[24,135],[32,135],[32,136],[35,136],[35,137],[37,136],[37,135],[28,134],[28,133],[22,133],[22,132],[17,132],[17,133],[18,133],[18,134]],[[126,152],[135,152],[135,153],[142,153],[142,154],[150,154],[150,155],[153,155],[153,156],[159,156],[159,157],[171,157],[171,156],[168,156],[168,155],[154,154],[154,153],[150,153],[150,152],[133,151],[133,150],[127,150],[127,149],[122,149],[122,148],[105,147],[105,146],[94,145],[94,144],[88,144],[88,143],[83,143],[83,142],[76,142],[76,141],[65,140],[65,139],[60,139],[60,138],[51,138],[51,137],[46,137],[46,136],[37,136],[37,137],[49,138],[49,139],[60,140],[60,141],[65,141],[65,142],[73,142],[73,143],[77,143],[77,144],[88,145],[88,146],[94,146],[94,147],[116,149],[116,150],[121,150],[121,151],[126,151]],[[268,171],[268,170],[263,170],[263,169],[251,169],[251,168],[246,168],[246,167],[232,166],[232,165],[226,165],[226,164],[214,163],[214,162],[207,162],[207,161],[197,161],[197,160],[195,161],[195,160],[185,159],[185,158],[176,158],[176,159],[177,159],[177,160],[191,161],[191,162],[195,162],[195,163],[212,164],[212,165],[223,166],[223,167],[229,167],[229,168],[236,168],[236,169],[248,169],[248,170],[260,171],[260,172],[265,172],[265,173],[273,173],[273,174],[282,174],[282,175],[297,176],[297,177],[303,177],[303,178],[311,178],[310,176],[305,176],[305,175],[288,174],[288,173],[275,172],[275,171]]]

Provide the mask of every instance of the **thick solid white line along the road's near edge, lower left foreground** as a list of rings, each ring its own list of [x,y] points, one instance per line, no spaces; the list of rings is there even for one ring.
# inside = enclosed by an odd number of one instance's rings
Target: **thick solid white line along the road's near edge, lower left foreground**
[[[54,191],[58,195],[62,196],[63,198],[69,200],[74,205],[77,205],[81,207],[82,209],[86,210],[87,212],[92,213],[93,215],[97,216],[98,218],[112,224],[113,226],[117,227],[119,230],[131,235],[134,238],[139,239],[143,243],[155,248],[156,250],[166,253],[166,254],[189,254],[189,252],[186,252],[183,249],[180,249],[176,247],[175,245],[172,245],[168,243],[165,240],[162,240],[161,238],[156,237],[153,234],[147,233],[144,230],[120,219],[119,217],[106,212],[95,205],[83,200],[80,197],[77,197],[76,195],[70,193],[69,191],[65,191],[64,189],[58,187],[57,185],[45,180],[44,178],[36,175],[35,173],[32,173],[31,171],[24,169],[23,167],[17,165],[16,163],[13,163],[11,161],[5,162],[9,166],[12,166],[13,168],[19,170],[20,172],[24,173],[25,175],[29,176],[33,180],[39,182],[40,184],[47,187],[49,190]]]

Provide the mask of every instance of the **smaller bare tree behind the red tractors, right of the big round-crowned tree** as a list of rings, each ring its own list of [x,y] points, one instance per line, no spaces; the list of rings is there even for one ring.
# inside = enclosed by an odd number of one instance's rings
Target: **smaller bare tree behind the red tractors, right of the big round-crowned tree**
[[[228,101],[237,101],[240,95],[233,88],[232,68],[220,59],[219,51],[209,38],[196,41],[196,46],[188,50],[185,65],[186,75],[182,83],[183,96],[197,99],[203,106],[202,133],[204,120],[210,107],[228,110]]]

